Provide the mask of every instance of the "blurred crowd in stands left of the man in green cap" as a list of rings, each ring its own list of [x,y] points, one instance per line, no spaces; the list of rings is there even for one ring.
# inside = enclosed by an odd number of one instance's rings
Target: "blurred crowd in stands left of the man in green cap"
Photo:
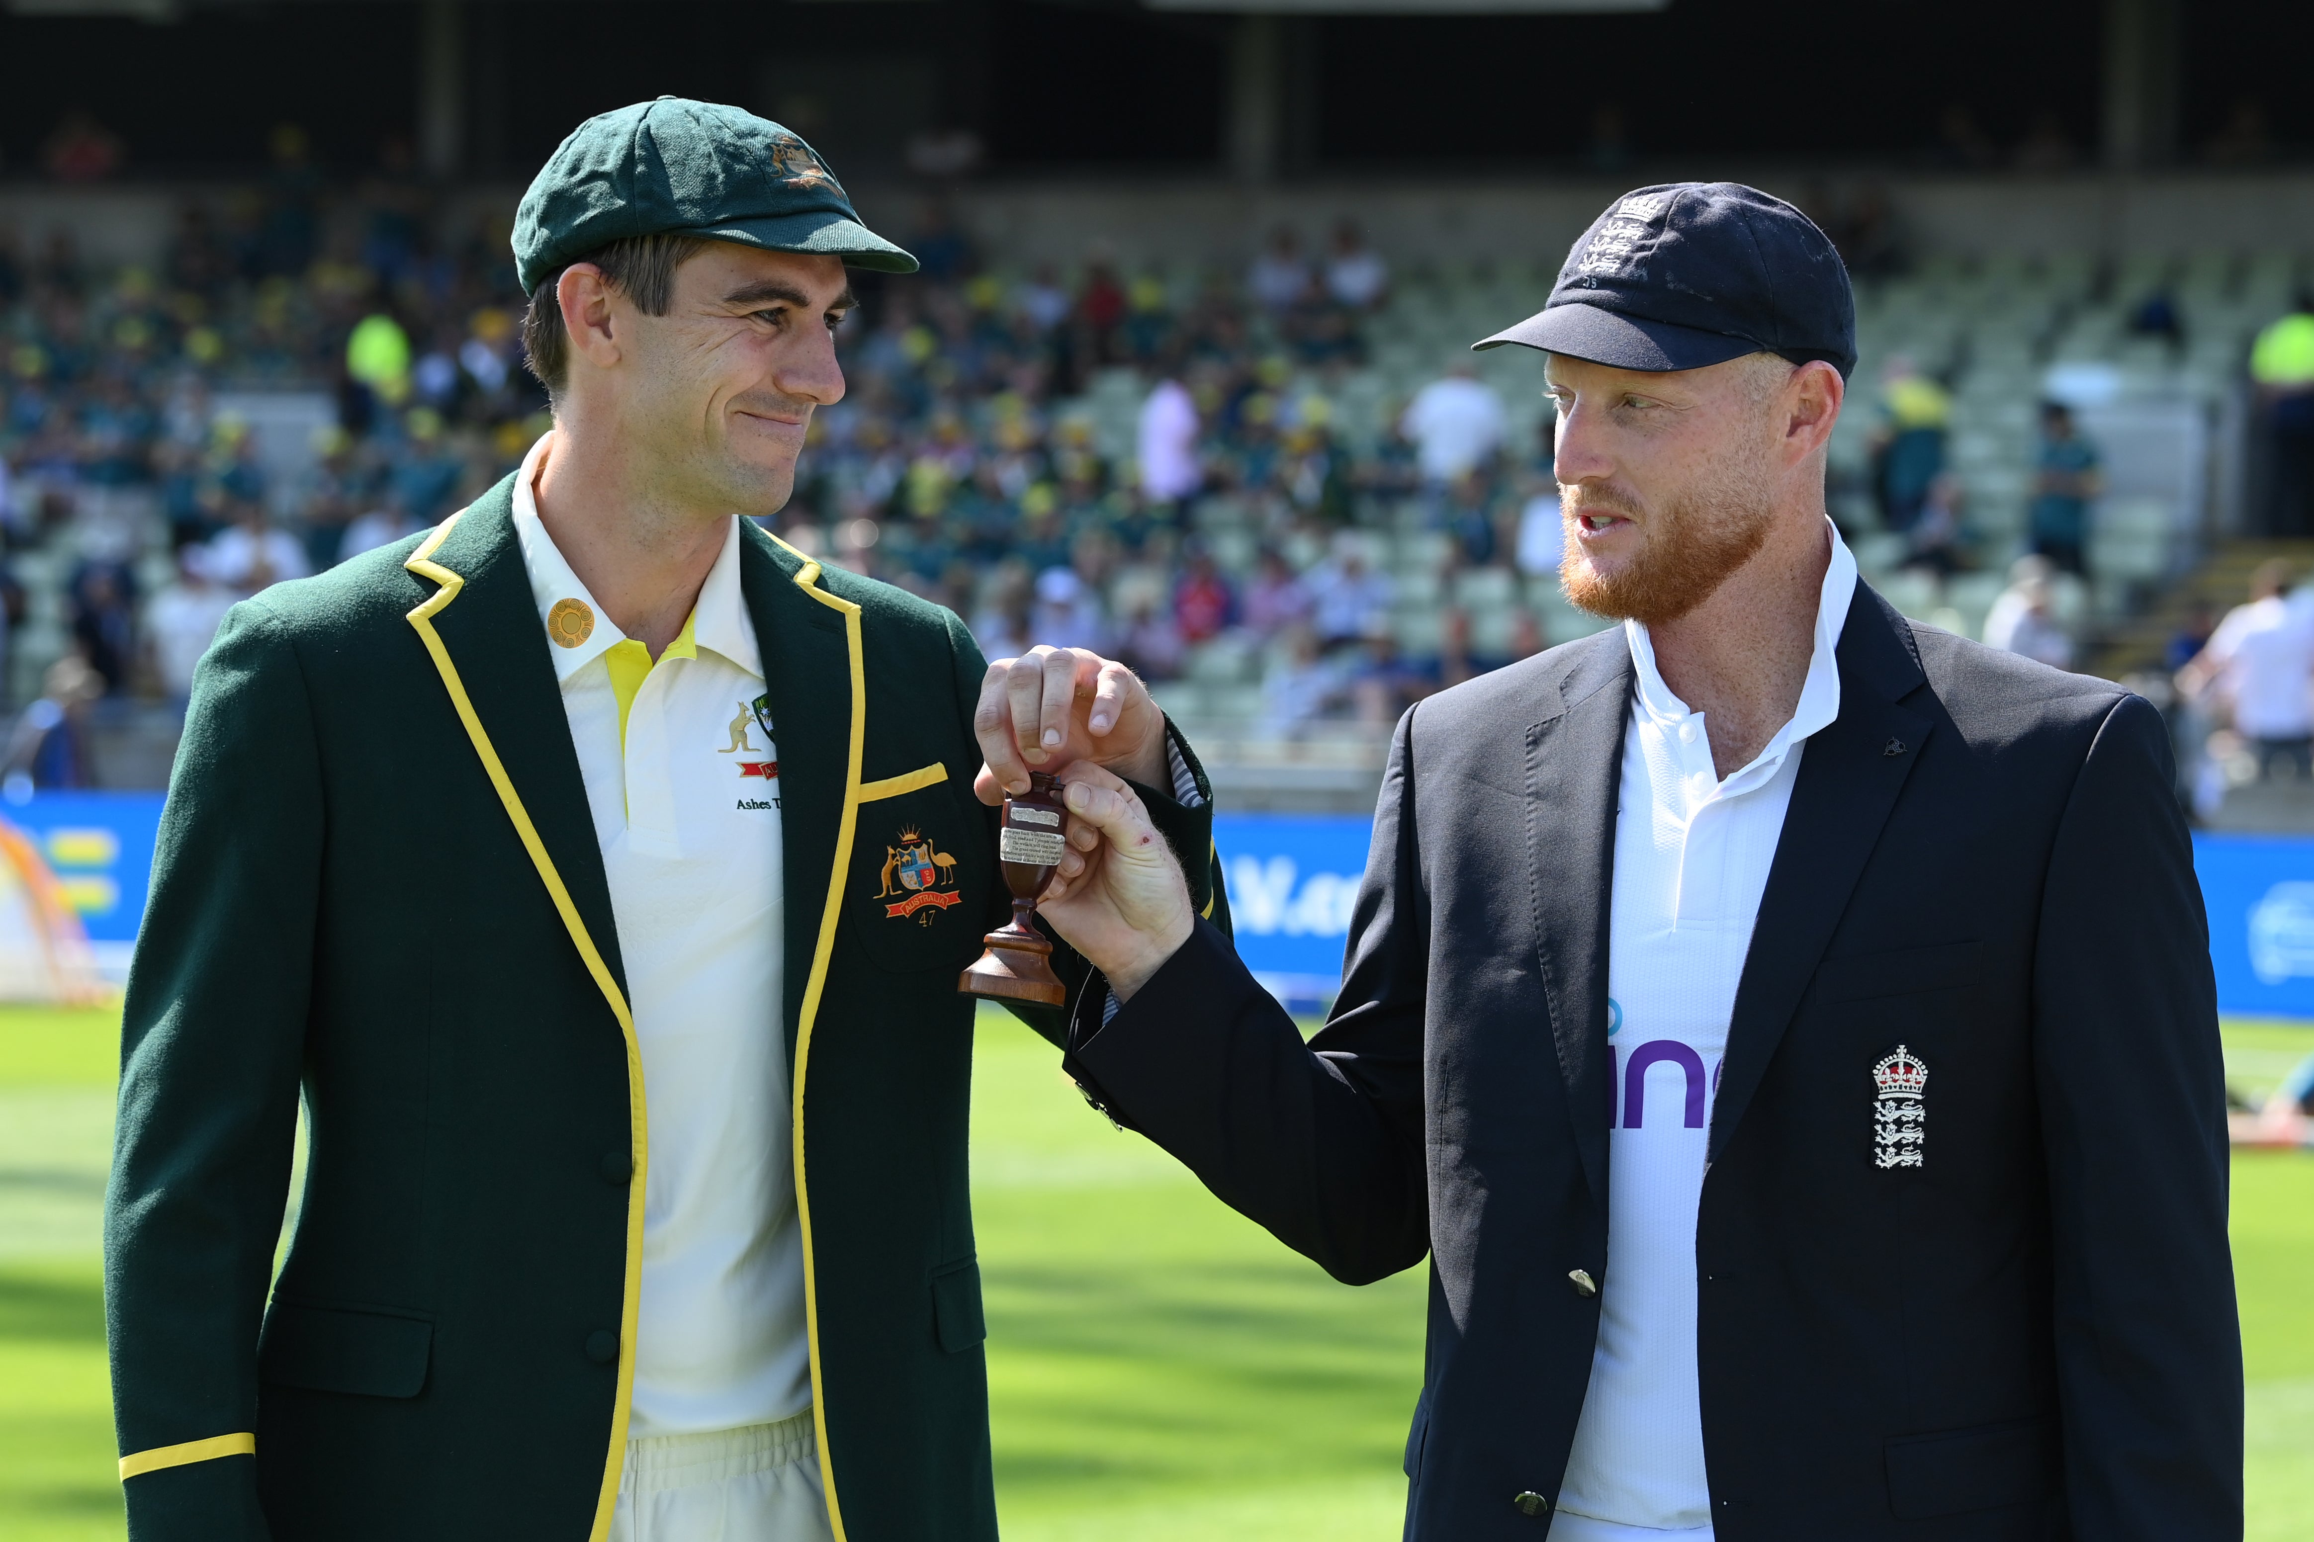
[[[544,425],[504,240],[437,245],[407,178],[340,203],[303,134],[273,148],[157,266],[0,231],[0,594],[21,622],[21,573],[62,587],[79,694],[180,703],[234,599],[430,525]],[[268,423],[285,398],[319,412]]]

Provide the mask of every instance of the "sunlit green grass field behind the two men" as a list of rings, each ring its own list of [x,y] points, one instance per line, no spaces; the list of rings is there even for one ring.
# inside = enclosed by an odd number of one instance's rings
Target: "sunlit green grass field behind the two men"
[[[2270,1087],[2314,1031],[2235,1022]],[[0,1537],[116,1542],[97,1209],[113,1024],[0,1010]],[[2314,1542],[2314,1156],[2235,1161],[2249,1537]],[[983,1015],[974,1193],[1009,1542],[1398,1535],[1423,1276],[1335,1285]]]

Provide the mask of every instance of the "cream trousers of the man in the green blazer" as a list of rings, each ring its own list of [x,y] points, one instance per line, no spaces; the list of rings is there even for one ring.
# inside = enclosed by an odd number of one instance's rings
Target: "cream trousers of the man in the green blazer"
[[[833,1542],[812,1413],[629,1440],[611,1542]]]

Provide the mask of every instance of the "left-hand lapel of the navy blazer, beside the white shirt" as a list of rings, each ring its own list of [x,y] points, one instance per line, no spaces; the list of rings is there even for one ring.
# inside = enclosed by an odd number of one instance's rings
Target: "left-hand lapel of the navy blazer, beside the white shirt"
[[[1543,703],[1541,721],[1527,728],[1527,874],[1534,883],[1536,964],[1583,1174],[1601,1204],[1613,1098],[1606,950],[1615,793],[1629,717],[1631,650],[1622,629],[1613,629],[1578,652]]]

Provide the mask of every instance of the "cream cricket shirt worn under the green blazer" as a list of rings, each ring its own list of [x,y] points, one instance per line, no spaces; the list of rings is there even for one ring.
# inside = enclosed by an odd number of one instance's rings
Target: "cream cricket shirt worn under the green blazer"
[[[780,751],[738,520],[653,663],[539,522],[551,446],[523,460],[514,529],[611,881],[650,1117],[629,1433],[766,1424],[808,1410],[812,1382],[780,1031]]]

